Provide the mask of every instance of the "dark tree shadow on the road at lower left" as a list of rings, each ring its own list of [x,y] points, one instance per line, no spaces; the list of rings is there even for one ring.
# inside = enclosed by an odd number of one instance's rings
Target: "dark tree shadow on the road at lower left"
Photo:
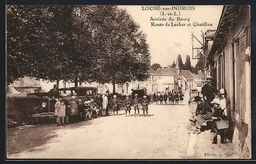
[[[42,151],[47,148],[39,146],[53,142],[57,138],[59,130],[74,129],[86,125],[95,124],[92,121],[83,121],[69,124],[67,126],[56,126],[56,124],[24,126],[23,129],[7,129],[7,154],[17,154],[22,151]],[[56,142],[56,141],[54,141]]]

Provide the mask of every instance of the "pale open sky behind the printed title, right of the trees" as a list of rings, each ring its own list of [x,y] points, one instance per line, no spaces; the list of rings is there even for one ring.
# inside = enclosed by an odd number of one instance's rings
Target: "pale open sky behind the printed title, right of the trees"
[[[217,30],[223,6],[194,6],[195,10],[175,10],[180,18],[189,18],[189,21],[177,21],[178,16],[161,16],[161,12],[157,10],[145,10],[146,6],[118,6],[121,9],[126,9],[133,19],[140,25],[140,30],[147,35],[147,44],[150,46],[151,64],[159,63],[162,67],[166,67],[177,59],[178,54],[181,54],[182,61],[185,63],[186,55],[190,56],[192,65],[196,65],[197,60],[192,59],[192,37],[194,33],[201,42],[203,41],[202,32],[207,30]],[[142,7],[144,10],[142,10]],[[160,6],[160,8],[170,8],[173,6]],[[186,6],[192,7],[192,6]],[[174,11],[164,11],[164,14]],[[193,22],[208,22],[212,26],[152,26],[151,17],[163,18],[168,21],[169,17],[174,18],[173,23],[191,23]],[[154,21],[156,23],[164,23],[166,21]],[[168,21],[170,23],[170,21]],[[200,43],[194,38],[194,47],[199,47]],[[195,56],[196,50],[194,50]]]

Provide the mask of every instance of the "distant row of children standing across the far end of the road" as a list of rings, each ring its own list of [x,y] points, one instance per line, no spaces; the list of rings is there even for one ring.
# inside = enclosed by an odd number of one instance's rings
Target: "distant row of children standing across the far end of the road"
[[[153,94],[153,101],[156,101],[156,104],[159,104],[158,101],[160,101],[160,105],[163,104],[171,104],[171,105],[178,105],[179,102],[180,104],[183,104],[183,100],[184,100],[184,94],[183,93],[179,93],[178,91],[172,91],[172,92],[168,92],[166,94],[166,92],[164,92],[164,94],[160,94],[157,95],[156,93]],[[169,101],[169,103],[167,103],[167,100]]]

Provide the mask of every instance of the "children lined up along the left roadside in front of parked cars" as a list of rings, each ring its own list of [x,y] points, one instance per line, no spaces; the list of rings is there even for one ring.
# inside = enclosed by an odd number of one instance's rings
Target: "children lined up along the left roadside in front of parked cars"
[[[69,123],[78,123],[80,121],[92,120],[101,116],[100,109],[102,109],[102,106],[97,103],[97,101],[94,102],[93,98],[84,102],[82,102],[81,99],[77,99],[76,96],[72,96],[70,101],[68,101],[67,98],[67,95],[63,95],[63,98],[60,97],[57,99],[54,105],[55,116],[57,116],[57,126],[66,126]],[[138,94],[135,94],[135,98],[131,100],[129,95],[126,95],[124,104],[125,117],[127,117],[127,112],[129,112],[129,116],[131,116],[131,106],[134,106],[134,116],[137,116],[136,111],[138,112],[138,116],[140,116],[139,110],[143,110],[143,116],[148,117],[147,96],[143,96],[143,99],[140,100],[138,98]],[[117,96],[114,95],[111,102],[114,116],[118,115],[119,105],[120,103],[117,99]]]

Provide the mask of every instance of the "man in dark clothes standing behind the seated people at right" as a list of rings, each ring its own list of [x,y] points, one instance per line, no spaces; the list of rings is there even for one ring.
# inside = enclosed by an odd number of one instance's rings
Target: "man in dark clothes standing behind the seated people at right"
[[[215,98],[215,89],[211,81],[212,77],[206,76],[206,80],[207,81],[205,85],[202,87],[201,93],[203,95],[204,101],[206,101],[208,105],[210,105],[210,102]]]

